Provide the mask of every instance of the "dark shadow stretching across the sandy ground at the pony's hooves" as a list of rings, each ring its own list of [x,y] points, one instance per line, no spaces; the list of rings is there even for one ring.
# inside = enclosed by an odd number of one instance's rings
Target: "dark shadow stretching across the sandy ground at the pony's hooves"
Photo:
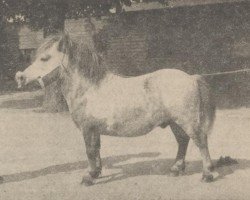
[[[136,176],[149,176],[149,175],[168,175],[169,169],[174,162],[174,159],[155,159],[150,161],[134,162],[129,164],[122,164],[122,162],[128,161],[133,158],[155,158],[160,154],[156,152],[152,153],[140,153],[140,154],[129,154],[121,156],[112,156],[103,158],[103,166],[106,169],[118,169],[121,170],[119,173],[114,173],[109,175],[108,180],[98,181],[97,184],[103,184],[107,182],[113,182],[117,180],[123,180],[130,177]],[[234,173],[236,170],[248,169],[250,168],[250,160],[240,159],[237,160],[238,164],[216,167],[215,171],[219,173],[216,178],[222,179],[225,176]],[[214,161],[216,162],[216,161]],[[119,164],[121,163],[121,164]],[[27,171],[16,174],[2,175],[0,176],[0,184],[10,183],[10,182],[20,182],[24,180],[29,180],[41,176],[46,176],[50,174],[72,172],[76,170],[86,169],[88,166],[87,161],[79,161],[74,163],[66,163],[61,165],[49,166],[40,170]],[[187,162],[185,176],[189,176],[196,173],[202,173],[202,162],[201,161],[191,161]],[[104,177],[105,178],[105,177]]]

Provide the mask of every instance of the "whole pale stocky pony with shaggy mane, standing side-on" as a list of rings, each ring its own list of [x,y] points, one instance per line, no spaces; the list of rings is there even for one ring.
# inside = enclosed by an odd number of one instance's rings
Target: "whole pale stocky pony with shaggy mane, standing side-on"
[[[34,80],[42,86],[60,80],[72,119],[85,141],[90,166],[83,179],[86,185],[93,184],[101,174],[100,135],[135,137],[167,126],[178,143],[171,173],[179,175],[184,171],[191,138],[203,160],[202,179],[213,180],[207,136],[215,106],[201,76],[162,69],[122,77],[106,70],[95,49],[63,34],[45,42],[34,62],[16,74],[19,87]]]

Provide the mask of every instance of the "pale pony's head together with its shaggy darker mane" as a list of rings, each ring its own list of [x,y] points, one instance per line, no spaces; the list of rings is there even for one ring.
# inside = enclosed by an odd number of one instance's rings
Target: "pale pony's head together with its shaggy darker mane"
[[[37,50],[34,62],[23,72],[16,73],[18,87],[35,80],[44,86],[44,80],[55,80],[60,70],[69,72],[75,68],[90,82],[101,80],[106,72],[104,65],[100,65],[95,49],[83,41],[72,42],[68,34],[47,40]]]

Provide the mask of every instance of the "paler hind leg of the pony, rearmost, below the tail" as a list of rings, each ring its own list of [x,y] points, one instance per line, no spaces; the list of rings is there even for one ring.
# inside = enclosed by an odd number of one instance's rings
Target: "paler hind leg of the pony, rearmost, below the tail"
[[[202,157],[202,163],[203,163],[202,181],[211,182],[213,181],[212,171],[214,167],[208,150],[207,135],[201,134],[193,138],[193,140],[196,146],[199,148]]]

